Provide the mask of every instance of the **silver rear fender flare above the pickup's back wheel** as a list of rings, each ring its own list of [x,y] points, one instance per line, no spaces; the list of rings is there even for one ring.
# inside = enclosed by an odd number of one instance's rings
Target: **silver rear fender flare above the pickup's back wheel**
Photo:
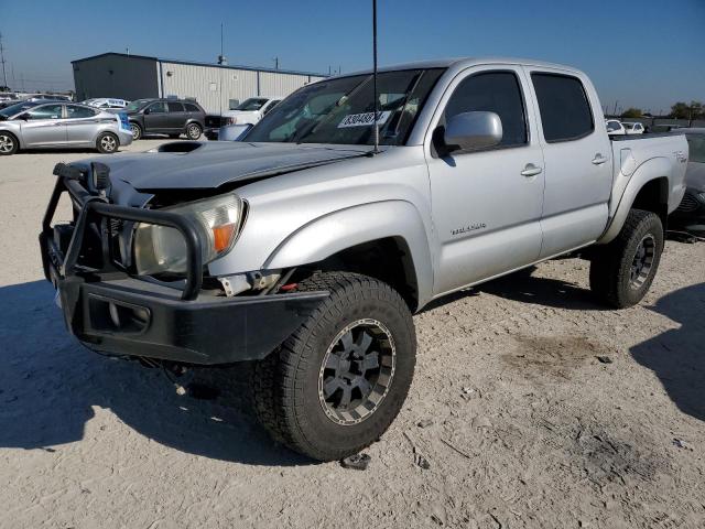
[[[629,215],[637,195],[646,184],[653,180],[665,177],[669,181],[669,184],[666,184],[661,190],[661,195],[663,198],[665,198],[664,202],[668,202],[669,197],[676,191],[670,188],[670,180],[668,175],[673,172],[673,165],[671,164],[671,160],[669,160],[668,158],[658,156],[647,160],[636,170],[633,170],[631,176],[628,173],[626,174],[625,171],[626,170],[622,163],[622,169],[616,176],[617,182],[614,185],[614,193],[617,193],[620,188],[623,188],[623,192],[621,194],[621,197],[619,198],[619,203],[617,204],[614,214],[611,215],[611,220],[608,223],[607,228],[605,229],[600,238],[597,239],[598,245],[606,245],[612,241],[615,237],[619,235],[619,231],[621,230],[621,227],[627,219],[627,215]],[[625,185],[623,183],[619,182],[619,180],[627,180],[628,182]],[[615,195],[612,195],[612,202],[614,201]],[[675,204],[675,206],[669,204],[669,212],[672,207],[676,206],[677,203]]]

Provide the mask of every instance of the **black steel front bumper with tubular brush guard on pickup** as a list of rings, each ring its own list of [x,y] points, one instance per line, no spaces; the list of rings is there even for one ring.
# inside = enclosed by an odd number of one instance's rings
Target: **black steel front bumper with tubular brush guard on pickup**
[[[261,359],[328,295],[302,292],[226,298],[203,291],[200,244],[188,220],[165,212],[108,204],[88,192],[75,173],[69,176],[59,175],[44,217],[40,247],[44,274],[57,289],[66,327],[90,349],[198,365]],[[85,176],[88,182],[90,177]],[[76,219],[52,227],[64,192],[69,193],[77,209]],[[101,223],[105,218],[152,223],[181,231],[188,257],[183,290],[131,277],[116,266],[107,244],[101,245],[102,256],[97,259],[101,266],[83,262],[90,247],[84,239],[94,231],[89,226],[98,222],[106,227],[109,223]]]

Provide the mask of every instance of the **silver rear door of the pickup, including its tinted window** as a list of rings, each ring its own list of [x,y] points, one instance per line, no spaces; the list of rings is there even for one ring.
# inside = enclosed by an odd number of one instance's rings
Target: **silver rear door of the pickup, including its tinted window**
[[[531,79],[545,162],[541,257],[588,245],[607,225],[611,143],[588,79],[525,67]]]

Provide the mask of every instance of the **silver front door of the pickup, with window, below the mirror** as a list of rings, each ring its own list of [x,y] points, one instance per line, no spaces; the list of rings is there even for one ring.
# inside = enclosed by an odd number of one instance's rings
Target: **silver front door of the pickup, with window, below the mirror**
[[[434,227],[441,244],[434,294],[534,262],[541,250],[543,156],[520,66],[476,66],[444,95],[426,139]],[[496,112],[499,145],[440,155],[434,138],[452,116]]]

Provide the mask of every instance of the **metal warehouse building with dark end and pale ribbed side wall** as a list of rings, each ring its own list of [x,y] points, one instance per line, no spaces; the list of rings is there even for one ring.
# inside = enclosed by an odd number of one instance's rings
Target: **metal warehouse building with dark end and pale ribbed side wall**
[[[192,98],[207,112],[248,97],[288,96],[322,74],[104,53],[72,61],[77,100],[91,97]]]

